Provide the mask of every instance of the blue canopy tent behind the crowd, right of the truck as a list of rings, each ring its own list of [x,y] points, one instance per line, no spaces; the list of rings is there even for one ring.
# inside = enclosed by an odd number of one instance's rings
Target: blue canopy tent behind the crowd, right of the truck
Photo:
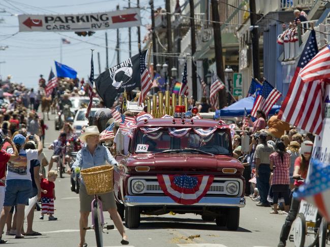
[[[237,102],[229,105],[229,107],[216,111],[215,117],[243,117],[244,116],[244,108],[247,110],[247,114],[251,113],[253,108],[254,97],[250,96],[247,98],[243,98],[238,100]],[[274,115],[276,110],[281,108],[280,105],[273,105],[271,112],[268,115]]]

